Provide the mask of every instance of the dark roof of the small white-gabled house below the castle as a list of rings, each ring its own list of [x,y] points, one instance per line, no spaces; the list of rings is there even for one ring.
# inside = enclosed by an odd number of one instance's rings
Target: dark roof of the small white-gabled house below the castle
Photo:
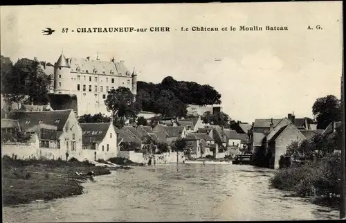
[[[82,143],[100,143],[106,136],[111,123],[80,123]]]

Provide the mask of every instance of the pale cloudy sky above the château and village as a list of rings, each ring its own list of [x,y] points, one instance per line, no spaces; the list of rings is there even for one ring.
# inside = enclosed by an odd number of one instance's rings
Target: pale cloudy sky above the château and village
[[[1,55],[56,62],[66,57],[124,60],[138,80],[210,84],[230,118],[313,117],[316,98],[340,98],[342,1],[1,6]],[[317,30],[316,26],[322,27]],[[77,33],[78,27],[167,26],[165,33]],[[182,32],[181,27],[219,32]],[[221,31],[221,27],[236,31]],[[239,26],[262,26],[240,31]],[[285,31],[265,26],[287,26]],[[308,26],[313,28],[309,30]],[[53,35],[42,35],[50,27]],[[62,33],[62,28],[69,28]]]

